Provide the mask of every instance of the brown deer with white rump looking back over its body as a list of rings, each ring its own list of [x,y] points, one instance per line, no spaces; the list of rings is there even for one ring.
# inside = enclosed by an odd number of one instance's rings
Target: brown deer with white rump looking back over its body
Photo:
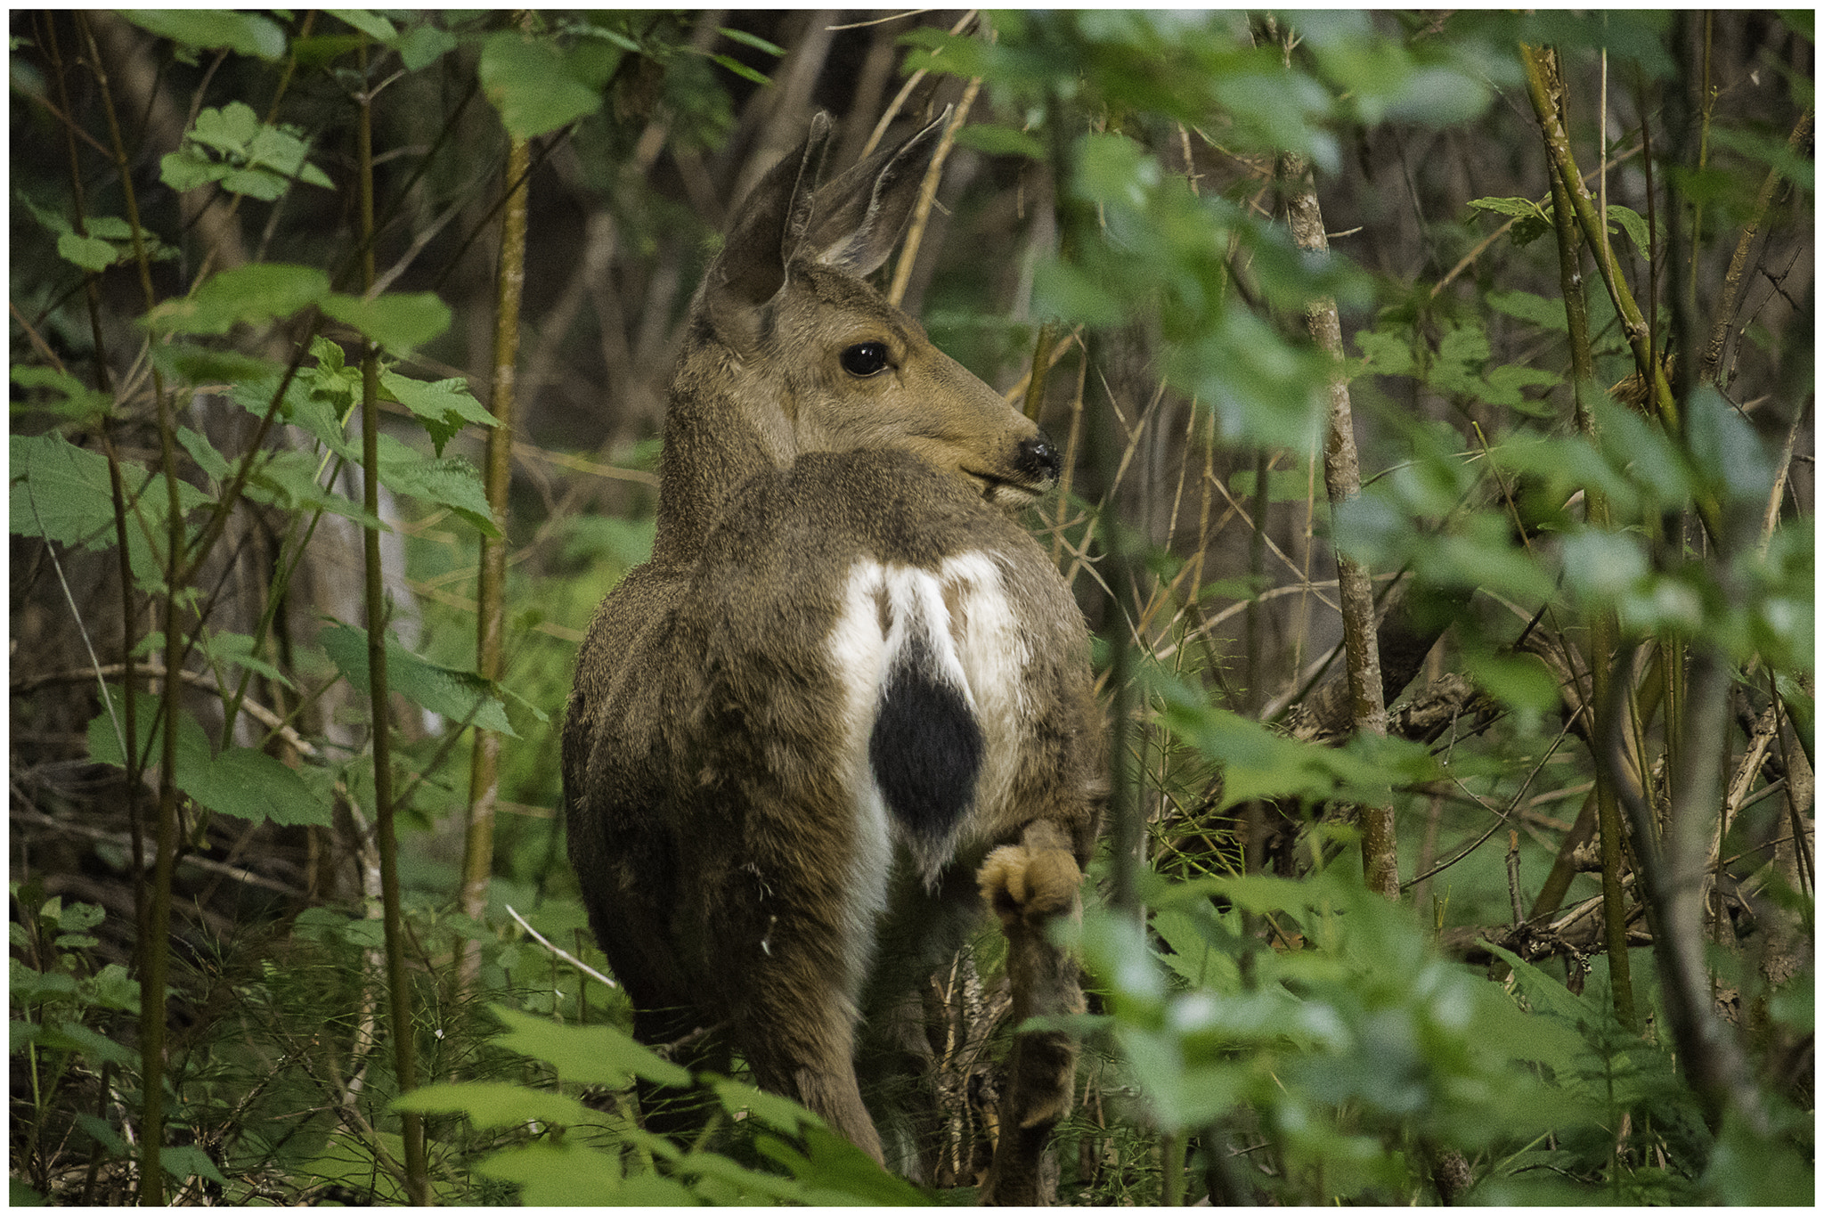
[[[985,910],[1014,1025],[1083,1010],[1054,926],[1107,797],[1089,629],[1018,521],[1060,452],[866,283],[945,120],[819,184],[817,115],[733,211],[666,403],[651,558],[587,627],[562,740],[569,860],[635,1037],[739,1054],[881,1163],[857,1050]],[[1063,1030],[1014,1037],[983,1201],[1040,1201],[1074,1059]]]

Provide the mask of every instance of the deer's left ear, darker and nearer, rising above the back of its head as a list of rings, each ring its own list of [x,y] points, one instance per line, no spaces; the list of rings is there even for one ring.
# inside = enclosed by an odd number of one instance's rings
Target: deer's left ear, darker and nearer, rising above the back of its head
[[[830,146],[830,115],[817,113],[810,135],[748,191],[735,222],[704,275],[704,301],[719,332],[741,341],[757,325],[753,310],[786,281],[790,250],[804,241],[815,206],[817,175]]]

